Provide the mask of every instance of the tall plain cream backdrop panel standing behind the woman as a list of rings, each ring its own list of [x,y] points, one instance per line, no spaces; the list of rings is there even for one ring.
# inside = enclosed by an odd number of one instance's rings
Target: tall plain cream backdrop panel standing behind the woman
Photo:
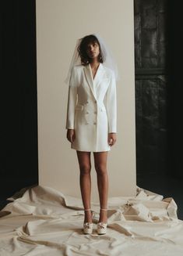
[[[39,185],[81,197],[76,150],[66,139],[64,80],[76,39],[99,33],[118,63],[117,142],[108,153],[109,197],[135,195],[135,75],[133,0],[37,0]],[[92,159],[91,200],[99,202]]]

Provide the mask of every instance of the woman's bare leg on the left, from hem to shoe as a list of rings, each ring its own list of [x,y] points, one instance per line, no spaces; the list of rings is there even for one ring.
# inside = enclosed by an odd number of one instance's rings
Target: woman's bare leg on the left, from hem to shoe
[[[83,200],[84,209],[90,209],[91,196],[91,160],[90,152],[77,151],[79,161],[80,177],[79,184]],[[91,211],[85,211],[84,222],[92,222]]]

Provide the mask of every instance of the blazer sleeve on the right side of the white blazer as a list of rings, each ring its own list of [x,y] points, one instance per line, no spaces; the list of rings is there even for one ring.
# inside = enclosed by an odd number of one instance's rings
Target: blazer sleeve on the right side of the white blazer
[[[111,74],[111,79],[106,92],[106,110],[108,118],[108,132],[117,132],[117,95],[116,82],[114,73]]]

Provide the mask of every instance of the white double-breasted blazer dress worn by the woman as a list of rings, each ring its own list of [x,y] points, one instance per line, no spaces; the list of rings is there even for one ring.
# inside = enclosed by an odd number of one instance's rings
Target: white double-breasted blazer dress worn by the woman
[[[117,97],[114,71],[100,63],[93,78],[90,64],[75,66],[69,81],[66,129],[75,129],[71,148],[111,150],[109,132],[117,132]]]

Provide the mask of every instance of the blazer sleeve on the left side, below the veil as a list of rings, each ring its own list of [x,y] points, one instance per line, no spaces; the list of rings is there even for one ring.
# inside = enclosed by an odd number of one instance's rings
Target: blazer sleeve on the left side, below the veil
[[[77,73],[75,67],[72,70],[72,75],[69,81],[69,92],[67,102],[67,114],[66,114],[66,129],[74,129],[75,120],[75,107],[77,101]]]

